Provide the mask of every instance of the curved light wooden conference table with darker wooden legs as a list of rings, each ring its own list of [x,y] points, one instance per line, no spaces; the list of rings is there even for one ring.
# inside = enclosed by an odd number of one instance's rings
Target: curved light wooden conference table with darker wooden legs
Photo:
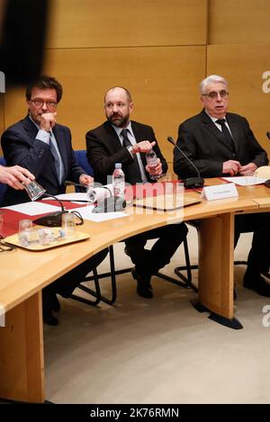
[[[206,184],[220,184],[219,179]],[[90,239],[45,252],[16,249],[0,254],[0,304],[5,327],[0,328],[0,397],[43,402],[44,358],[41,289],[96,252],[124,238],[169,223],[202,219],[199,236],[199,294],[203,310],[241,328],[233,316],[234,214],[270,210],[270,190],[263,185],[238,187],[238,198],[201,202],[167,213],[128,209],[129,217],[100,223],[85,221],[81,231]],[[199,193],[188,193],[194,198]]]

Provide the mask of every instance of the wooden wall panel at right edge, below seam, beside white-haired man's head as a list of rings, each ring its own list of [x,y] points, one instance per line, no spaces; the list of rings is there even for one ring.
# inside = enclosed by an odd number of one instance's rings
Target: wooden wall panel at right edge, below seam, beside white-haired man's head
[[[209,46],[207,75],[229,81],[229,111],[247,118],[257,140],[270,157],[270,67],[269,44]],[[268,76],[263,78],[265,72]]]

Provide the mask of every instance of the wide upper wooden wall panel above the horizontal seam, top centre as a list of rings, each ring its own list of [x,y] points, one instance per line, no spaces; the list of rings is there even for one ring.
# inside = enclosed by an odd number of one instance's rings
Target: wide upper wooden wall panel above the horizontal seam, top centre
[[[54,0],[49,48],[205,44],[207,0]]]

